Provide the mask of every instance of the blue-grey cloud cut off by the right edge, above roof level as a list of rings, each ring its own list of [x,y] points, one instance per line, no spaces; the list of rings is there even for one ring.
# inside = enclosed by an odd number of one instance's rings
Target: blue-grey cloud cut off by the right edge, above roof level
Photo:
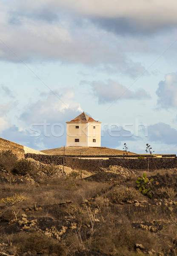
[[[158,84],[156,94],[161,108],[177,108],[177,73],[166,74],[165,80]]]

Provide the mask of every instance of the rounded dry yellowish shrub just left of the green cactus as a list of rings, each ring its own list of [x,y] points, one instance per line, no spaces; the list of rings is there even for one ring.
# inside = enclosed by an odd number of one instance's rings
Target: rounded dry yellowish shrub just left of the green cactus
[[[115,190],[111,193],[111,197],[116,204],[120,204],[135,198],[138,194],[139,192],[134,189],[126,189],[126,191]]]

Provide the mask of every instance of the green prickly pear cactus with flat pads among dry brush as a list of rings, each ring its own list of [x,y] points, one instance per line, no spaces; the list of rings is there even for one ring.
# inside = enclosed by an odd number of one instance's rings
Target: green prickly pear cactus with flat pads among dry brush
[[[143,173],[143,177],[142,178],[138,177],[137,181],[136,181],[137,187],[139,188],[139,191],[142,192],[143,195],[147,195],[149,198],[152,198],[151,182],[153,180],[154,180],[153,178],[151,180],[149,180],[148,177],[146,177],[146,173]]]

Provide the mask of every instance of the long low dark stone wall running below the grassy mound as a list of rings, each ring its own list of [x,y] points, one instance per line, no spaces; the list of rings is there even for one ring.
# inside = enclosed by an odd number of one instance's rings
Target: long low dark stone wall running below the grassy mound
[[[63,165],[63,156],[43,155],[43,154],[25,154],[25,157],[31,157],[41,163]],[[148,160],[149,159],[149,160]],[[153,161],[154,160],[154,161]],[[129,169],[174,169],[177,168],[177,157],[175,158],[146,158],[146,159],[128,159]],[[109,159],[81,159],[75,157],[65,157],[65,165],[72,169],[83,169],[87,171],[98,171],[100,167],[107,168],[110,165],[118,165],[127,168],[126,158],[110,157]]]

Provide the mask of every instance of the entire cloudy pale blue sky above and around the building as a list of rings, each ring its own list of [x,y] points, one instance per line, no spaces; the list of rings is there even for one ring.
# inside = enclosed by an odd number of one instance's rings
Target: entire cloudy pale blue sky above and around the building
[[[176,0],[1,0],[0,137],[59,148],[85,111],[101,146],[177,154],[176,12]]]

